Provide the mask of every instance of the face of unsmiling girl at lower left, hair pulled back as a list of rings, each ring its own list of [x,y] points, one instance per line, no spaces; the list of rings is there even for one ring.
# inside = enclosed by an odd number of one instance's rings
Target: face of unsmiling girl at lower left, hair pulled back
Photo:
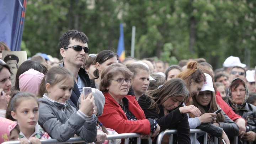
[[[34,98],[23,98],[12,117],[20,124],[20,129],[32,129],[36,126],[39,117],[39,106]]]

